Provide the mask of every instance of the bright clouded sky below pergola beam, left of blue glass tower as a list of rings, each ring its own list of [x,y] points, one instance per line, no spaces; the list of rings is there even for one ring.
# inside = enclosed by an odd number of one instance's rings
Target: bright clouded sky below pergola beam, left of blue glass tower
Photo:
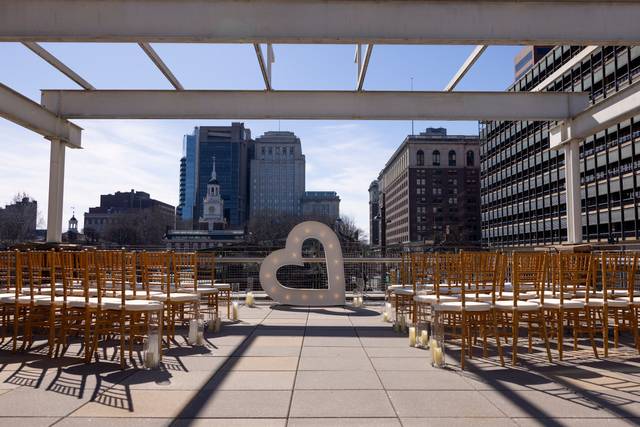
[[[84,121],[83,149],[66,150],[63,230],[72,207],[82,214],[98,206],[100,194],[136,189],[170,204],[178,199],[179,133],[161,122]],[[0,203],[25,191],[38,201],[46,221],[49,143],[38,135],[1,124]]]

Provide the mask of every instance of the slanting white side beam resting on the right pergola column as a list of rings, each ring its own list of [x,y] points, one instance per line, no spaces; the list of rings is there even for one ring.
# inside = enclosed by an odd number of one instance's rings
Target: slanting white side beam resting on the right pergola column
[[[634,83],[552,128],[549,131],[550,147],[557,149],[572,141],[583,140],[638,114],[640,83]]]

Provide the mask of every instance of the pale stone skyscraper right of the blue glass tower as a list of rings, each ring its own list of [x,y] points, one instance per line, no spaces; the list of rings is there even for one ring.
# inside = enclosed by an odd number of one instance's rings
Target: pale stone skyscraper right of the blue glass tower
[[[254,148],[250,215],[301,215],[305,158],[300,139],[293,132],[266,132]]]

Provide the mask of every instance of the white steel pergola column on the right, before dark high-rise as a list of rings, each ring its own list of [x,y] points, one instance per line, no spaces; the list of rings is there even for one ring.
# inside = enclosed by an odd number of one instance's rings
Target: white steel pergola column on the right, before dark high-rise
[[[564,147],[565,188],[567,189],[567,242],[582,243],[582,207],[580,205],[580,141]]]

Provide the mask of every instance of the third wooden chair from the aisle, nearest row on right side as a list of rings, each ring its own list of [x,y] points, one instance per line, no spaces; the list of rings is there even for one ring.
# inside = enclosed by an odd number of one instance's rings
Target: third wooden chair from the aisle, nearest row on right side
[[[588,289],[592,279],[591,254],[560,253],[550,255],[551,289],[543,290],[539,297],[531,301],[542,306],[545,318],[551,324],[549,335],[557,338],[558,358],[564,356],[565,322],[573,331],[573,349],[578,349],[578,336],[588,334],[594,355],[598,352],[594,339],[594,325],[585,301],[573,299],[581,289]]]

